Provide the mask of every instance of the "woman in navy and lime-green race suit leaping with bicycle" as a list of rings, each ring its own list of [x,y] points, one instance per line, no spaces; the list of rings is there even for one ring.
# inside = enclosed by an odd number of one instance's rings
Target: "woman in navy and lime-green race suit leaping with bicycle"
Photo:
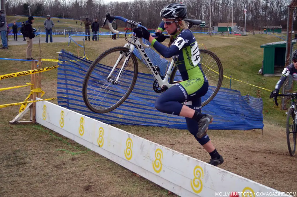
[[[183,79],[182,82],[170,87],[156,100],[155,107],[160,112],[183,116],[186,118],[187,128],[198,142],[210,154],[212,165],[224,162],[206,134],[208,125],[213,120],[209,114],[201,113],[201,96],[208,90],[208,81],[202,71],[198,44],[192,32],[187,29],[183,21],[187,16],[187,7],[184,4],[172,3],[165,6],[160,12],[164,21],[164,28],[170,34],[170,44],[166,47],[150,35],[146,29],[138,27],[133,32],[137,37],[149,40],[163,57],[173,60]],[[170,43],[171,43],[170,42]],[[192,105],[184,105],[184,102]]]

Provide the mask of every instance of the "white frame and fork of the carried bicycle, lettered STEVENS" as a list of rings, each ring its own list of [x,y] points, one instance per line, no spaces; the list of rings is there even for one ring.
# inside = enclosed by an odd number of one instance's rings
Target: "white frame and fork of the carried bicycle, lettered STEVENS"
[[[131,54],[133,53],[133,51],[135,50],[135,46],[136,49],[138,50],[139,54],[141,55],[141,57],[143,58],[143,60],[146,62],[146,66],[149,69],[149,71],[151,71],[151,74],[154,76],[154,78],[157,80],[157,82],[159,83],[159,86],[162,87],[162,89],[167,90],[169,87],[173,86],[173,84],[169,84],[168,83],[168,78],[171,75],[172,71],[173,71],[173,65],[174,65],[174,61],[172,60],[169,68],[164,76],[164,79],[161,78],[160,76],[160,72],[159,72],[159,67],[156,65],[153,65],[153,63],[151,62],[151,60],[149,59],[148,55],[145,52],[145,48],[148,48],[148,45],[145,44],[141,44],[143,43],[142,40],[139,41],[139,39],[137,37],[135,37],[134,35],[131,36],[130,38],[130,42],[133,43],[127,43],[125,44],[124,47],[129,49],[130,54],[128,54],[128,56],[125,58],[125,61],[123,63],[123,65],[121,66],[121,69],[118,73],[118,75],[116,76],[116,79],[113,80],[110,78],[110,76],[113,74],[113,71],[116,69],[117,65],[119,64],[120,60],[124,57],[124,53],[120,54],[118,60],[116,61],[115,65],[113,66],[113,69],[111,70],[110,74],[108,75],[107,79],[114,83],[117,84],[117,82],[119,81],[120,76],[123,74],[123,71],[125,69],[125,67],[127,66],[127,63],[129,61],[129,58],[131,56]]]

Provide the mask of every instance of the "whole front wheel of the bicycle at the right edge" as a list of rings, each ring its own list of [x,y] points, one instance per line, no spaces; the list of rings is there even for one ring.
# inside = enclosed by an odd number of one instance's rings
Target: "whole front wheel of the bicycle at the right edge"
[[[296,122],[294,111],[293,108],[289,108],[287,112],[287,144],[291,156],[294,156],[296,151]]]

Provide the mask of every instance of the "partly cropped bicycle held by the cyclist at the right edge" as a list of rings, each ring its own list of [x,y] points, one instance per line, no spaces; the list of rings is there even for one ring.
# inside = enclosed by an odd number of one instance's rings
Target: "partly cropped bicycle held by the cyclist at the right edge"
[[[277,106],[278,106],[278,103],[277,103],[278,96],[291,97],[290,108],[286,112],[287,114],[286,133],[287,133],[287,145],[288,145],[289,154],[293,157],[296,151],[296,137],[297,137],[297,115],[296,115],[297,108],[296,108],[296,102],[294,101],[294,99],[297,99],[297,93],[278,94],[277,96],[274,97],[274,101]],[[291,144],[290,142],[292,142],[293,144]]]

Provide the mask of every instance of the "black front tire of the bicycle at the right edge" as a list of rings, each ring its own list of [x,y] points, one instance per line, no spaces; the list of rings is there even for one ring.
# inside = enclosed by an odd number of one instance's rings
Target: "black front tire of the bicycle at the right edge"
[[[288,145],[288,150],[290,156],[295,156],[295,151],[296,151],[296,122],[295,122],[295,114],[294,114],[294,109],[289,108],[287,112],[287,122],[286,122],[286,133],[287,133],[287,145]],[[290,117],[293,119],[293,124],[292,124],[292,132],[293,132],[293,149],[291,148],[290,144]]]

